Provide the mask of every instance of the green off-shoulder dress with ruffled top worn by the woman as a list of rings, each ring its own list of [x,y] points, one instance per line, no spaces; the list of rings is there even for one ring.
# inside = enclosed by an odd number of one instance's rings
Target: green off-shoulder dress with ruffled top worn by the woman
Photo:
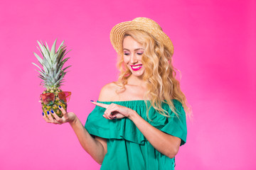
[[[186,142],[186,113],[182,104],[173,100],[176,110],[179,112],[177,117],[166,103],[162,108],[168,111],[170,118],[159,114],[153,107],[149,110],[150,121],[146,118],[146,104],[144,101],[112,101],[99,103],[116,103],[134,111],[144,118],[155,128],[181,138],[181,145]],[[107,154],[102,162],[100,169],[111,170],[164,170],[174,169],[175,158],[170,159],[158,152],[142,135],[142,132],[129,118],[108,120],[103,118],[105,108],[95,106],[95,109],[88,115],[85,123],[86,130],[94,136],[107,139]]]

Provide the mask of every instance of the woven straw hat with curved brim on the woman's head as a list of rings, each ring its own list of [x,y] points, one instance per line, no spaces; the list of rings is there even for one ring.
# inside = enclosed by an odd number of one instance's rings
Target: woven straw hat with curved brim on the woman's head
[[[146,33],[153,35],[154,38],[166,45],[171,52],[171,55],[174,54],[174,45],[159,24],[149,18],[144,17],[134,18],[132,21],[118,23],[112,28],[110,32],[110,42],[117,53],[119,53],[119,50],[122,48],[122,40],[124,33],[127,30],[144,30]]]

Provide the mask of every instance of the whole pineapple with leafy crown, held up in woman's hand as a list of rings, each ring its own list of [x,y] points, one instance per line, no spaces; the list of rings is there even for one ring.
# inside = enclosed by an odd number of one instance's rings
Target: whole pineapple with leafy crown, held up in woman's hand
[[[49,49],[47,42],[46,45],[44,45],[43,42],[38,42],[38,45],[40,47],[40,49],[38,48],[38,50],[43,55],[43,59],[39,57],[36,52],[34,52],[34,55],[38,59],[38,62],[43,66],[43,69],[41,69],[41,67],[33,62],[32,64],[36,65],[36,67],[39,68],[39,70],[36,70],[40,73],[38,77],[43,79],[41,84],[43,84],[43,87],[46,88],[46,90],[43,91],[43,94],[53,93],[55,96],[55,101],[47,104],[43,103],[43,100],[41,98],[43,113],[45,113],[47,116],[47,111],[53,110],[61,118],[63,116],[63,113],[58,109],[58,106],[61,106],[62,108],[67,110],[67,103],[65,100],[60,100],[58,94],[62,91],[60,89],[60,86],[63,85],[63,78],[67,73],[65,72],[65,70],[71,66],[62,69],[65,62],[67,62],[69,59],[69,57],[64,59],[65,55],[68,52],[66,52],[65,50],[66,46],[64,45],[64,41],[61,42],[57,52],[55,52],[56,42],[57,39],[53,43],[51,50]],[[53,94],[50,94],[49,97],[53,97]],[[46,97],[46,100],[47,98],[48,96]]]

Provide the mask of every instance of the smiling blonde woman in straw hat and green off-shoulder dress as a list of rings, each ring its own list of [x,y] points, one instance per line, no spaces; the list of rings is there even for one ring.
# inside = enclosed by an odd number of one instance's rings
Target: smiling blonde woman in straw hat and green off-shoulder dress
[[[114,26],[110,41],[120,57],[119,79],[92,101],[85,128],[63,108],[63,118],[53,113],[55,119],[44,119],[70,123],[101,169],[174,169],[186,142],[188,106],[175,78],[171,40],[156,22],[135,18]]]

